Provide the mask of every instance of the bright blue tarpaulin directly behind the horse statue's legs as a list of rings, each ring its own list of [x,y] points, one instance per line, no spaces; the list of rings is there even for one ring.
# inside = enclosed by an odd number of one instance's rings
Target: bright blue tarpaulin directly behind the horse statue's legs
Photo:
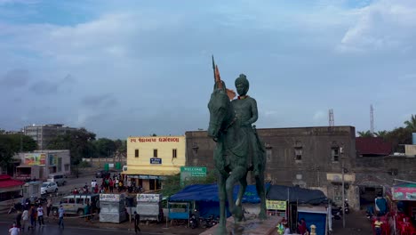
[[[265,185],[266,191],[269,184]],[[239,185],[234,187],[234,199],[238,194]],[[217,184],[193,184],[180,192],[172,195],[169,201],[196,201],[199,207],[199,215],[218,216],[220,213],[220,199],[218,198]],[[247,185],[243,196],[243,203],[260,203],[255,185]],[[227,212],[228,216],[229,213]]]

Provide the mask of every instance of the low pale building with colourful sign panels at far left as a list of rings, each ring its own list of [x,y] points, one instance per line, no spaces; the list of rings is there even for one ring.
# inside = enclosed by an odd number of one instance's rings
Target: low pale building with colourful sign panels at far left
[[[20,159],[15,178],[19,180],[46,179],[49,174],[70,174],[69,150],[36,150],[22,152],[14,158]]]

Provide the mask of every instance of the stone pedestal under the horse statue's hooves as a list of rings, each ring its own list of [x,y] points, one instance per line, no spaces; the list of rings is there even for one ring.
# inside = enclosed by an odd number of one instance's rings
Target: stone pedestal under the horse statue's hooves
[[[282,221],[282,217],[268,216],[267,220],[260,221],[257,218],[249,217],[247,215],[245,222],[234,223],[234,218],[231,216],[227,219],[227,232],[233,235],[276,235],[277,223]],[[217,235],[218,224],[211,229],[200,233],[199,235]],[[228,235],[223,234],[223,235]],[[222,235],[222,234],[221,234]]]

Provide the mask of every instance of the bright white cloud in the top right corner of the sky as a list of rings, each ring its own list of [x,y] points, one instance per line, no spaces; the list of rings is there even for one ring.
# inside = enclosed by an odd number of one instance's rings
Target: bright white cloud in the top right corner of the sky
[[[379,1],[353,10],[358,20],[352,24],[337,51],[341,53],[364,53],[370,51],[412,49],[416,32],[416,2]]]

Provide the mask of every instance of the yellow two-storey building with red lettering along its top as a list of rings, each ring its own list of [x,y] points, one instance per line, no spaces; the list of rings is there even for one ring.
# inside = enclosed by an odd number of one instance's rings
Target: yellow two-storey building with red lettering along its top
[[[179,174],[186,162],[185,136],[140,136],[127,138],[127,169],[143,190],[158,190],[164,176]]]

